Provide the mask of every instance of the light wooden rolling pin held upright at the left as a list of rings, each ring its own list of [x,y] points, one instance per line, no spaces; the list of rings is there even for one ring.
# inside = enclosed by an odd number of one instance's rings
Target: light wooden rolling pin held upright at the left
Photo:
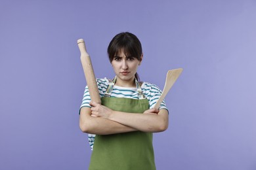
[[[100,93],[98,92],[98,86],[95,78],[95,73],[93,71],[93,65],[91,64],[91,58],[87,53],[85,47],[85,41],[83,39],[77,40],[79,50],[81,52],[81,63],[83,66],[83,72],[85,73],[85,79],[87,82],[88,90],[90,93],[91,101],[96,101],[96,103],[101,103]]]

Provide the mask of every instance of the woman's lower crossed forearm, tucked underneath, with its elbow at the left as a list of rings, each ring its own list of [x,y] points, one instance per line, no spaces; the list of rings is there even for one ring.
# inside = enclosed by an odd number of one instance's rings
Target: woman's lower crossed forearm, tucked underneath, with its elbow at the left
[[[110,135],[137,130],[106,118],[93,117],[89,111],[89,108],[82,108],[80,112],[79,126],[83,132],[96,135]]]

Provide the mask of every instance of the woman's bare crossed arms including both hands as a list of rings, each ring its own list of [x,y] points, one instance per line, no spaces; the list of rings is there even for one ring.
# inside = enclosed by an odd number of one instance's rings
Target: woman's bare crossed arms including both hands
[[[143,114],[118,112],[95,102],[80,110],[81,131],[96,135],[109,135],[129,131],[160,132],[168,127],[165,109],[148,109]]]

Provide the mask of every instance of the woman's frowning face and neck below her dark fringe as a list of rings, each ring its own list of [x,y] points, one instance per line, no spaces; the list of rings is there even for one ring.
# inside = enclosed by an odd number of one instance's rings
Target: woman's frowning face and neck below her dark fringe
[[[133,56],[125,56],[123,50],[114,57],[112,60],[112,67],[116,73],[117,82],[119,85],[131,85],[130,83],[133,84],[135,73],[137,73],[140,62],[141,61]]]

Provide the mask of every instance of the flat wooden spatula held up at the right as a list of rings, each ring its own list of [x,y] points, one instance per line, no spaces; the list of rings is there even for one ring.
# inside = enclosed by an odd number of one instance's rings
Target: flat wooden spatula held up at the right
[[[158,109],[161,105],[161,102],[165,98],[165,95],[169,92],[173,84],[176,82],[177,78],[181,75],[181,72],[183,71],[182,68],[179,69],[173,69],[169,70],[166,75],[165,79],[165,86],[163,88],[163,93],[161,93],[160,98],[158,99],[158,102],[156,102],[156,105],[154,108]]]

